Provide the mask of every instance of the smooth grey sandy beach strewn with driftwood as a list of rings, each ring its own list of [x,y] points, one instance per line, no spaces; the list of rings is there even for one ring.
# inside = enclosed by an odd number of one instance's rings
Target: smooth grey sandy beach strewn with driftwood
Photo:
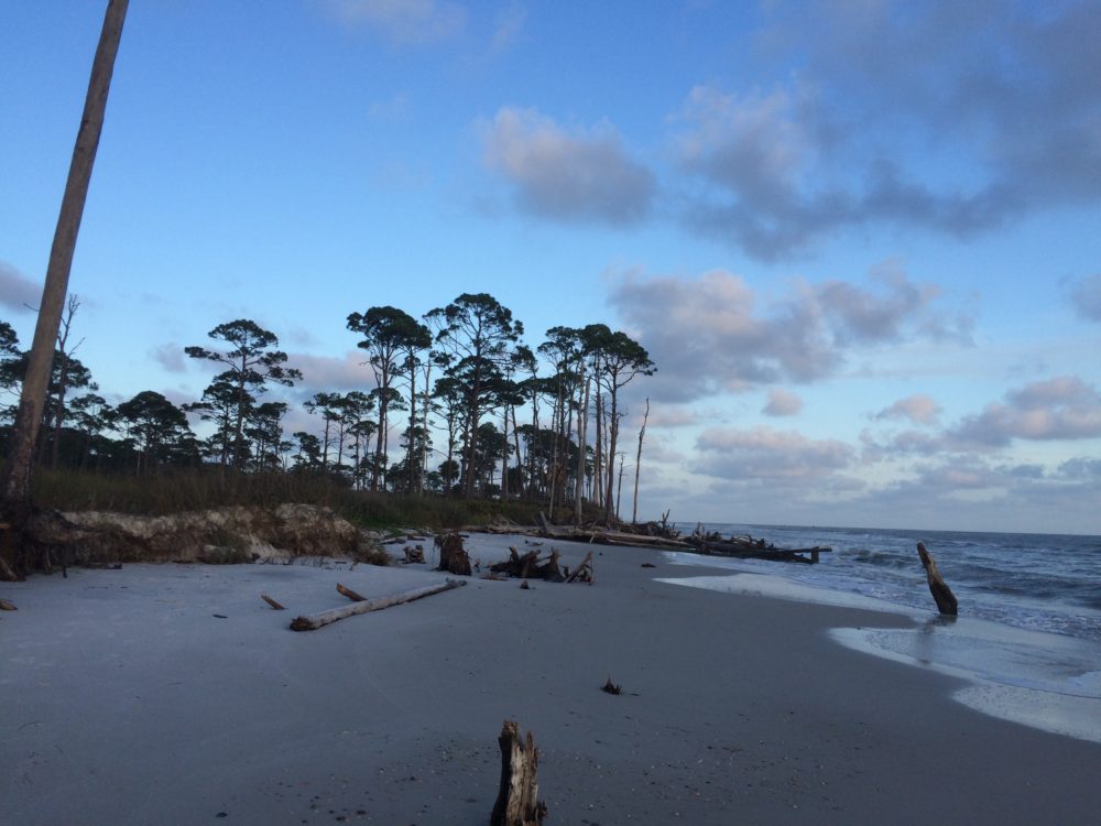
[[[471,557],[522,539],[473,535]],[[555,543],[563,562],[587,546]],[[642,567],[643,563],[655,565]],[[961,681],[838,644],[911,621],[657,582],[467,587],[427,566],[127,565],[3,584],[0,820],[486,824],[504,719],[532,730],[550,824],[1084,824],[1101,746],[980,714]],[[266,593],[287,607],[272,610]],[[622,685],[606,694],[606,680]]]

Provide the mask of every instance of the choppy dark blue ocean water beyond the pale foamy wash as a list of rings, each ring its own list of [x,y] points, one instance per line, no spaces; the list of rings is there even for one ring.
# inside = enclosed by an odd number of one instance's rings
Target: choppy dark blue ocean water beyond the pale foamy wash
[[[713,556],[704,557],[707,564],[935,611],[917,555],[917,543],[924,542],[959,599],[960,616],[1101,641],[1101,536],[716,523],[704,528],[723,536],[763,537],[777,547],[833,548],[821,554],[818,565]]]

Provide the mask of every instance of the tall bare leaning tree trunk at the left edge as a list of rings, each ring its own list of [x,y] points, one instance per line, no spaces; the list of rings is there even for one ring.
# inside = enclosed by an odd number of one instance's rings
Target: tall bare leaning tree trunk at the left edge
[[[53,367],[54,341],[61,325],[68,276],[73,268],[76,237],[84,216],[84,204],[91,181],[91,167],[96,162],[99,135],[103,129],[103,113],[107,109],[107,94],[111,87],[115,56],[119,51],[122,23],[127,15],[129,0],[109,0],[103,18],[103,29],[91,64],[91,78],[85,98],[84,115],[77,131],[73,160],[69,164],[68,181],[62,208],[57,216],[57,228],[50,250],[45,284],[42,289],[42,306],[34,328],[31,357],[26,367],[26,378],[19,400],[15,425],[12,430],[8,461],[0,471],[0,508],[11,529],[7,547],[0,551],[0,559],[9,561],[0,565],[0,575],[22,576],[29,568],[29,559],[22,546],[21,534],[31,511],[31,457],[39,426],[42,423],[42,407]]]

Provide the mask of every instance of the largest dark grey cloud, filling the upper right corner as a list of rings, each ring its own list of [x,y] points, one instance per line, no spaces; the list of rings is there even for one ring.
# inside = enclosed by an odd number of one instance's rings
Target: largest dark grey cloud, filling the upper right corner
[[[799,68],[698,86],[676,117],[691,228],[775,259],[871,222],[971,237],[1101,200],[1097,3],[767,6],[757,42]],[[938,180],[933,155],[969,172]]]

